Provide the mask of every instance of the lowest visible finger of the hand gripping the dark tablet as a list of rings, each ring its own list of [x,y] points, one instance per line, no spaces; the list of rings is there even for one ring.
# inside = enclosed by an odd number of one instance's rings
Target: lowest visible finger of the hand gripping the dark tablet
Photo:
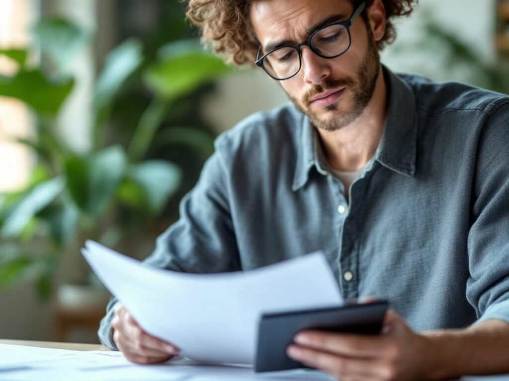
[[[287,354],[304,365],[321,369],[336,378],[362,377],[373,379],[373,376],[378,374],[376,363],[372,360],[332,355],[300,345],[290,345]]]

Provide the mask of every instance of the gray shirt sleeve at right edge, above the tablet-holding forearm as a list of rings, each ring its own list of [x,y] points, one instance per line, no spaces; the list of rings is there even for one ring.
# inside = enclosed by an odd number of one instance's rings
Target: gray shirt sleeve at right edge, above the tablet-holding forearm
[[[468,235],[467,299],[477,322],[509,323],[509,101],[479,136]]]

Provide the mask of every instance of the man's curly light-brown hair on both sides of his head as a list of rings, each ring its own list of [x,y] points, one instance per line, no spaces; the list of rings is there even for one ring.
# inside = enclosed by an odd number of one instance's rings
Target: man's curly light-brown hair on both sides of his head
[[[187,18],[202,29],[202,42],[210,43],[215,53],[225,56],[237,66],[254,65],[259,46],[249,18],[249,9],[257,0],[183,0],[188,2]],[[361,0],[349,0],[354,6]],[[374,0],[366,0],[362,17],[367,21],[366,10]],[[409,16],[418,0],[382,0],[387,25],[385,35],[377,41],[378,50],[396,38],[392,20]]]

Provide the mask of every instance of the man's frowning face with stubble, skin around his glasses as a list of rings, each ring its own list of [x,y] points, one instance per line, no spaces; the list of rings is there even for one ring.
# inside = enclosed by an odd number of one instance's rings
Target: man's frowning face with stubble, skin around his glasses
[[[348,0],[258,0],[251,6],[250,18],[263,48],[307,40],[311,26],[334,15],[335,21],[346,20],[353,11]],[[379,75],[378,50],[362,17],[354,21],[350,33],[350,49],[336,58],[319,57],[303,46],[299,73],[280,82],[295,106],[326,131],[341,129],[362,114]]]

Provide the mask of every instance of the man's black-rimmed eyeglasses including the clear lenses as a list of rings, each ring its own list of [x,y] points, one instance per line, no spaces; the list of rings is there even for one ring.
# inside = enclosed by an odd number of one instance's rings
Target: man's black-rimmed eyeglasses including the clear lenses
[[[301,46],[308,46],[316,55],[322,58],[336,58],[345,54],[352,44],[350,26],[357,16],[364,10],[362,2],[345,21],[335,22],[315,30],[307,39],[296,45],[276,48],[260,57],[262,47],[258,47],[256,65],[263,68],[268,75],[278,81],[284,81],[297,75],[302,67]]]

